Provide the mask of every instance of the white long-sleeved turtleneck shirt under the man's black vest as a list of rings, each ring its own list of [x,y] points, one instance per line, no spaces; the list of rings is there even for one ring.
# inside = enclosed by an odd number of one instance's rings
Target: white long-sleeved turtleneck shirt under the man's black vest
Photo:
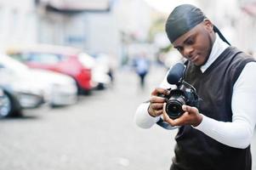
[[[201,71],[206,71],[213,64],[213,61],[219,57],[219,54],[223,53],[225,48],[228,47],[229,45],[223,42],[216,34],[212,52],[207,63],[201,66]],[[232,122],[216,121],[204,116],[202,113],[202,122],[194,128],[222,144],[241,149],[247,148],[253,139],[253,129],[256,122],[254,107],[256,105],[256,88],[254,82],[256,82],[256,62],[250,62],[245,65],[233,87],[231,101]],[[170,88],[171,85],[164,78],[160,87]],[[149,115],[147,111],[149,105],[149,103],[143,103],[137,108],[134,122],[139,127],[150,128],[160,119],[160,116],[152,117]]]

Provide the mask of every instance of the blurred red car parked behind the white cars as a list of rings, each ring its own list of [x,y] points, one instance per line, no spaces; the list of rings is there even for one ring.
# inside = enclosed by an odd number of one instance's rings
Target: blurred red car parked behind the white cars
[[[82,51],[77,48],[41,44],[12,47],[7,54],[31,68],[57,71],[73,77],[79,94],[88,94],[94,88],[91,69],[82,62]]]

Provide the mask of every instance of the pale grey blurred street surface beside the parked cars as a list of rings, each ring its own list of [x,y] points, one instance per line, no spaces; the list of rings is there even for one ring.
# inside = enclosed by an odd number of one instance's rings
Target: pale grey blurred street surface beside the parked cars
[[[113,87],[81,96],[77,105],[43,105],[24,111],[23,118],[1,120],[0,169],[168,170],[177,131],[141,129],[133,120],[136,107],[164,77],[163,68],[153,69],[145,89],[134,72],[123,69]]]

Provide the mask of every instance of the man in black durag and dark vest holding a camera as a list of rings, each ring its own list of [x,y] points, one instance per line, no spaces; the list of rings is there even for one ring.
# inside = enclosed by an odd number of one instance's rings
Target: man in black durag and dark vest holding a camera
[[[185,82],[196,88],[199,107],[183,105],[185,113],[172,120],[165,111],[170,87],[164,80],[139,105],[134,116],[139,127],[149,128],[162,117],[178,127],[171,170],[249,170],[250,142],[256,114],[256,63],[231,47],[219,30],[195,6],[184,4],[168,16],[170,42],[187,59]]]

